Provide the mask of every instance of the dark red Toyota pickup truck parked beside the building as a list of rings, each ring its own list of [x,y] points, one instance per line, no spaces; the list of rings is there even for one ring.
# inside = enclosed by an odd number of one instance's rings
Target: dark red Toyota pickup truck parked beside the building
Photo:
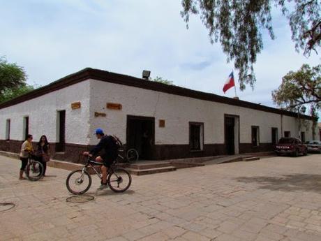
[[[292,137],[283,137],[275,146],[275,152],[278,156],[290,154],[291,156],[299,156],[308,154],[308,147],[304,145],[300,139]]]

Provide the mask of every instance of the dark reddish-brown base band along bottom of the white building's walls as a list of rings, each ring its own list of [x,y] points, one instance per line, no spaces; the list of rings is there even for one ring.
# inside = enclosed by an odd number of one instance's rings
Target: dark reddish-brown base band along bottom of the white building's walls
[[[18,140],[0,140],[0,150],[4,152],[20,153],[22,141]],[[56,152],[56,144],[50,143],[51,155],[53,159],[69,161],[72,163],[84,163],[82,152],[91,149],[90,145],[78,145],[66,143],[64,152]],[[36,148],[36,143],[33,143]],[[207,144],[202,151],[190,151],[189,145],[155,145],[151,159],[186,159],[192,157],[218,156],[225,155],[225,144]],[[271,143],[260,143],[260,146],[253,147],[251,143],[240,143],[239,153],[271,152],[273,145]]]

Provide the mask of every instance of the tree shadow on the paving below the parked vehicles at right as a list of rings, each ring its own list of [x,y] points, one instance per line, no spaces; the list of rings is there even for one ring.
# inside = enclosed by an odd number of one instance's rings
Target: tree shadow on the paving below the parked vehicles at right
[[[238,182],[257,183],[272,191],[313,191],[321,193],[321,175],[291,174],[278,177],[237,177]]]

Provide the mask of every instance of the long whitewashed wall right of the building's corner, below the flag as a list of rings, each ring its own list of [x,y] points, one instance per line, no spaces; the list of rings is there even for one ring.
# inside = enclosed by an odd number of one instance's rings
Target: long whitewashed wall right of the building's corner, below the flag
[[[251,143],[251,126],[260,126],[260,143],[271,143],[272,127],[278,128],[279,138],[282,136],[281,115],[270,112],[98,80],[91,80],[91,96],[91,132],[94,133],[94,129],[100,127],[107,133],[119,136],[124,142],[127,115],[155,117],[156,145],[188,144],[188,122],[204,122],[205,144],[224,143],[224,114],[239,115],[240,143]],[[121,103],[122,110],[107,109],[107,102]],[[107,117],[94,117],[95,111],[105,112]],[[165,128],[158,127],[159,119],[165,119]],[[290,129],[294,133],[295,128],[297,121],[294,117],[283,117],[283,131]],[[97,140],[91,138],[90,143],[95,144]]]

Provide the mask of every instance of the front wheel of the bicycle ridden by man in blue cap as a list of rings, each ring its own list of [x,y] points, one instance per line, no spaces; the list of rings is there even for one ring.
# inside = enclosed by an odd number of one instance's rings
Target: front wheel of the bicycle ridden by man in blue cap
[[[73,170],[69,173],[66,186],[68,191],[73,194],[82,194],[89,190],[91,186],[91,176],[87,173],[87,170]]]

